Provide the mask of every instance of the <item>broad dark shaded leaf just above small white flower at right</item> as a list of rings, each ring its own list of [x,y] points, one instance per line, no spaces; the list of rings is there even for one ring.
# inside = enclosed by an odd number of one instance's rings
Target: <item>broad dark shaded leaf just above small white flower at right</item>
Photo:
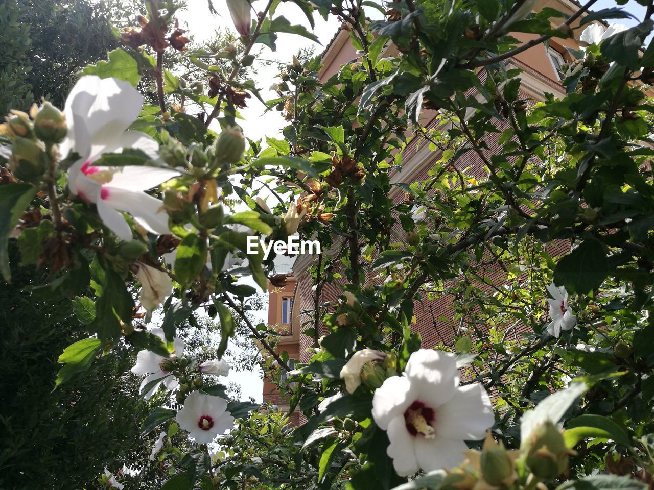
[[[569,294],[586,294],[599,287],[609,272],[604,246],[598,240],[586,240],[560,259],[554,269],[554,284]]]

